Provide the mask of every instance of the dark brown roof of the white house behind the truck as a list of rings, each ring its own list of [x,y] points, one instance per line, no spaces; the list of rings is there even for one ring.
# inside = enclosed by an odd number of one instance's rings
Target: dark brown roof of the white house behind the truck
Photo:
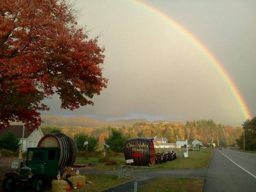
[[[24,129],[24,138],[28,138],[29,135],[33,132],[33,127],[25,127]],[[13,133],[16,137],[22,138],[23,125],[9,125],[4,129],[0,130],[0,136],[3,136],[7,132]]]

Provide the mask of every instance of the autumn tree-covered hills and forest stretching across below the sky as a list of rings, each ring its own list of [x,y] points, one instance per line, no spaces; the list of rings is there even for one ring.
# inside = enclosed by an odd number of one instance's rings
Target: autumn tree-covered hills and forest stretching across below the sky
[[[57,117],[59,118],[59,116]],[[109,134],[111,134],[110,129],[113,128],[121,130],[127,138],[155,137],[157,135],[157,137],[166,137],[169,142],[175,142],[177,138],[187,138],[189,142],[197,139],[204,144],[212,143],[212,141],[213,143],[217,143],[217,138],[219,138],[221,146],[235,145],[236,139],[243,132],[241,127],[216,124],[212,120],[180,123],[165,121],[148,122],[145,119],[132,119],[107,122],[89,117],[82,119],[82,117],[84,116],[79,116],[75,119],[70,117],[67,119],[65,117],[51,119],[51,121],[45,122],[41,126],[41,129],[46,133],[47,130],[58,128],[71,137],[74,137],[78,132],[84,132],[85,134],[98,137],[99,145],[104,142],[105,138],[108,138]],[[86,122],[88,119],[90,121]],[[61,123],[58,123],[59,121]]]

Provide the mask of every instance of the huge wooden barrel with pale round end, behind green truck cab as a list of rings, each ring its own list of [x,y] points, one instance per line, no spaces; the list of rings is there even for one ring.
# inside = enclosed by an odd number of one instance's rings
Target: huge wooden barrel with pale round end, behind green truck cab
[[[71,166],[76,161],[76,142],[63,133],[44,135],[39,140],[37,147],[59,147],[59,167]]]

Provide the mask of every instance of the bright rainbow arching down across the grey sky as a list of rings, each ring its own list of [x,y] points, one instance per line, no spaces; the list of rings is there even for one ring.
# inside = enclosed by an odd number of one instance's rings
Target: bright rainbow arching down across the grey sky
[[[238,91],[238,89],[237,89],[235,83],[233,82],[233,80],[231,79],[231,77],[228,75],[228,73],[225,71],[225,69],[220,65],[220,63],[217,61],[217,59],[214,58],[213,54],[209,50],[207,50],[207,48],[201,42],[199,42],[198,39],[193,34],[189,33],[189,31],[187,29],[180,26],[172,18],[170,18],[165,13],[157,10],[152,5],[142,2],[140,0],[131,0],[131,1],[134,2],[135,4],[137,4],[138,6],[142,7],[143,9],[147,9],[151,13],[154,13],[154,14],[158,15],[159,17],[163,18],[164,20],[166,20],[167,22],[171,23],[171,25],[173,27],[177,28],[183,35],[185,35],[188,39],[190,39],[190,41],[193,42],[198,47],[198,49],[201,50],[205,54],[205,56],[207,58],[209,58],[209,60],[213,64],[214,68],[217,69],[218,73],[225,80],[230,91],[233,93],[239,107],[241,108],[244,118],[245,119],[252,118],[250,110],[246,106],[246,103],[242,97],[242,94]]]

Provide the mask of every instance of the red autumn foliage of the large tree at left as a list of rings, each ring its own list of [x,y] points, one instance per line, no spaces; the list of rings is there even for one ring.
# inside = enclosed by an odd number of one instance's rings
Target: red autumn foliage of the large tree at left
[[[0,129],[10,121],[38,126],[42,100],[61,108],[93,105],[107,87],[105,51],[77,25],[65,0],[0,0]]]

